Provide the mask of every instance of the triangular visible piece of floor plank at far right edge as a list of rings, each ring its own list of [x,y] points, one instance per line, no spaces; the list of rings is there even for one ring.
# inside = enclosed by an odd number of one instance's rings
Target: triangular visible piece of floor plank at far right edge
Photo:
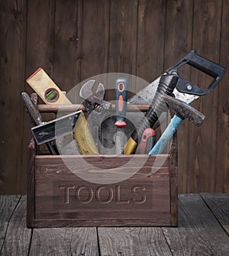
[[[229,235],[229,193],[201,193],[201,196]]]

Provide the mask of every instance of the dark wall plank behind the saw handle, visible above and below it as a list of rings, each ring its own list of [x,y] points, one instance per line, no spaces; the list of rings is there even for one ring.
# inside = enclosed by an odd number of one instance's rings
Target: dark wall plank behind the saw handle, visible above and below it
[[[219,62],[221,36],[221,1],[195,1],[193,20],[193,47],[197,53]],[[192,73],[192,81],[198,86],[209,85],[208,76]],[[221,85],[219,85],[221,86]],[[193,107],[205,116],[201,128],[190,125],[188,192],[214,191],[216,170],[216,131],[218,114],[218,88],[208,96],[200,97]]]

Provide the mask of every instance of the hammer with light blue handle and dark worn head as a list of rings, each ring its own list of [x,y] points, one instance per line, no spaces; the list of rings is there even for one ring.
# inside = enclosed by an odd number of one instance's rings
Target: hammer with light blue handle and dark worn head
[[[193,109],[189,104],[171,96],[167,96],[166,94],[163,95],[162,98],[176,111],[176,115],[173,116],[166,130],[163,132],[149,154],[161,154],[163,149],[166,147],[166,144],[171,140],[174,132],[185,118],[188,118],[189,121],[196,126],[202,125],[202,122],[205,120],[205,115],[202,115],[201,112]]]

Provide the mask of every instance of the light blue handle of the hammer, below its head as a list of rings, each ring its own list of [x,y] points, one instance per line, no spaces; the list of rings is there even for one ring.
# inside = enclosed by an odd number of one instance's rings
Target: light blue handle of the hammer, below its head
[[[174,115],[166,130],[163,132],[160,139],[156,142],[155,146],[152,148],[149,154],[162,154],[166,144],[171,140],[171,138],[173,138],[174,132],[177,130],[182,121],[182,118]]]

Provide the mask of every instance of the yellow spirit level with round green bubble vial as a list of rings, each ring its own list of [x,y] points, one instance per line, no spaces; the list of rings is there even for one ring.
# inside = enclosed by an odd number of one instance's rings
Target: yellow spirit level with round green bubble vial
[[[72,104],[42,68],[34,72],[26,81],[46,104]],[[73,136],[80,154],[98,154],[98,149],[95,146],[83,112],[76,122]]]

